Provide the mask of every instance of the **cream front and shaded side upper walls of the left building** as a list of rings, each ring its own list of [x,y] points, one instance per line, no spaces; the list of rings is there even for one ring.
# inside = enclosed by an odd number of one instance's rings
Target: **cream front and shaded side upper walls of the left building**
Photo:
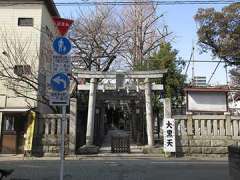
[[[18,18],[33,18],[33,26],[18,26]],[[35,77],[39,77],[41,83],[40,93],[45,93],[46,71],[50,70],[51,59],[46,54],[46,49],[51,49],[51,38],[56,30],[52,17],[45,4],[23,4],[14,6],[0,7],[0,58],[7,57],[2,54],[6,48],[6,42],[11,44],[12,49],[25,46],[26,61],[31,65],[32,71],[36,72]],[[47,52],[49,53],[49,52]],[[23,54],[17,50],[15,54]],[[48,58],[47,58],[48,57]],[[0,67],[1,68],[1,67]],[[38,76],[37,72],[42,72]],[[7,82],[0,82],[0,108],[14,107],[36,107],[37,103],[33,100],[17,97],[13,91],[6,87]],[[36,98],[37,92],[29,90],[27,95]],[[7,95],[7,98],[5,96]],[[6,100],[6,101],[5,101]],[[20,103],[21,102],[21,103]]]

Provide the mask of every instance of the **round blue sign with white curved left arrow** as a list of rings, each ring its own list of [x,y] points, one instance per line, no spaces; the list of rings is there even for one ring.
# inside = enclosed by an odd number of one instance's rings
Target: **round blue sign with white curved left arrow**
[[[65,73],[58,73],[55,74],[52,78],[51,78],[51,87],[54,91],[64,91],[68,88],[69,84],[70,84],[70,80],[67,76],[67,74]]]

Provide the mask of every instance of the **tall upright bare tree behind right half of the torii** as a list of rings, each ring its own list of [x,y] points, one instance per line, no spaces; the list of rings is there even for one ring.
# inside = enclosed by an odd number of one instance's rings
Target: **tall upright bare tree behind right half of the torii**
[[[142,65],[143,61],[159,48],[161,41],[165,41],[171,34],[166,26],[160,27],[163,15],[157,15],[157,6],[151,2],[141,4],[141,1],[136,0],[136,4],[124,12],[125,27],[131,31],[125,58],[132,67]]]

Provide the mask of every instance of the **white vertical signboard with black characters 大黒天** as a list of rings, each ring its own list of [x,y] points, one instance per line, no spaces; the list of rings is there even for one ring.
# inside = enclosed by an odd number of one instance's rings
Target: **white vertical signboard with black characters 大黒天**
[[[176,152],[175,120],[172,118],[163,120],[163,141],[165,152]]]

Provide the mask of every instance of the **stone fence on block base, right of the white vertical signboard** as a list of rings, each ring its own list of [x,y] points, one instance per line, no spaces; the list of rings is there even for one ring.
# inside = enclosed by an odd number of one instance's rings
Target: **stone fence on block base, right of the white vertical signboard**
[[[240,117],[225,115],[175,116],[176,150],[184,155],[227,155],[240,141]]]

